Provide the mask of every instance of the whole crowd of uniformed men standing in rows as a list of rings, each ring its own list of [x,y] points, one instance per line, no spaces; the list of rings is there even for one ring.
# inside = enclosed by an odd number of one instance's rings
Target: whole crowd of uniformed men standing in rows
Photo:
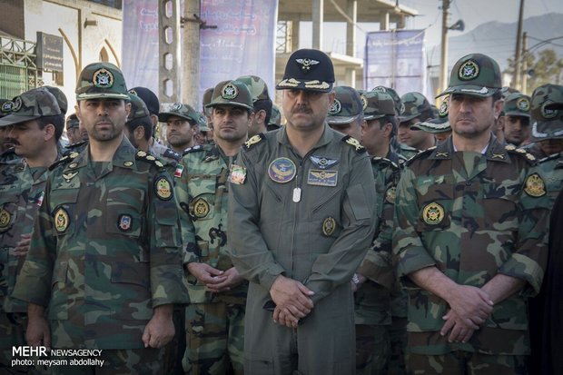
[[[436,107],[301,49],[282,111],[253,75],[161,108],[109,63],[67,117],[3,100],[0,373],[561,373],[563,86],[500,78],[466,55]]]

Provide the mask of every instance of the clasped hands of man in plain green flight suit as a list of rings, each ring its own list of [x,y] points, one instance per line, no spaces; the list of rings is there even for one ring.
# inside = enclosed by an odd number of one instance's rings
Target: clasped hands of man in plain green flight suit
[[[278,275],[270,289],[272,301],[276,304],[273,321],[283,319],[285,323],[289,319],[291,324],[296,324],[299,319],[311,312],[314,305],[310,297],[314,294],[314,291],[301,282]],[[283,313],[282,316],[281,313]]]

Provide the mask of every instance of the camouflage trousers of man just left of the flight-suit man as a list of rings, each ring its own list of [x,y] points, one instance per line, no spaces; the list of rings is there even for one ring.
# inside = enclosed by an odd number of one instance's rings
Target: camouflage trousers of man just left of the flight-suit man
[[[186,307],[186,374],[243,374],[244,304],[191,303]]]

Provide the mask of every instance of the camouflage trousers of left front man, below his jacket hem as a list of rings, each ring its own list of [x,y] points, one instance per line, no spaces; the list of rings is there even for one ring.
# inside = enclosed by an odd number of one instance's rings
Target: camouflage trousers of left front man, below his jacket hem
[[[54,360],[54,358],[51,358]],[[81,366],[73,360],[88,360],[83,357],[57,357],[65,360],[64,365],[44,367],[45,374],[52,375],[164,375],[163,350],[143,349],[104,349],[95,360],[104,364]],[[90,360],[94,360],[91,358]]]

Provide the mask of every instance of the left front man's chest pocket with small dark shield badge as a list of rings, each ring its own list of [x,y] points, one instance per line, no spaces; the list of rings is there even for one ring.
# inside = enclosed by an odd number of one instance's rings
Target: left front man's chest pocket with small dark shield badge
[[[106,231],[133,238],[140,237],[144,226],[143,204],[143,189],[110,189],[105,206]]]

